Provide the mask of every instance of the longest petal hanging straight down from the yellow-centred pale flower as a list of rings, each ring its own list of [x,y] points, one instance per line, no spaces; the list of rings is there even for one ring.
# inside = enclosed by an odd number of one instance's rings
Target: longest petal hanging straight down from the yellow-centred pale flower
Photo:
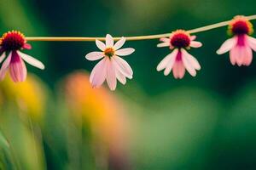
[[[117,84],[115,77],[115,67],[110,59],[108,59],[107,82],[110,90],[115,90]]]

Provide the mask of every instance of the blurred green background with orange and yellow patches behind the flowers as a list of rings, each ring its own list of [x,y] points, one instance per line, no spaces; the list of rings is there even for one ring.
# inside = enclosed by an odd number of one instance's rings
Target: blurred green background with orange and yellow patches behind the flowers
[[[0,0],[0,32],[28,37],[137,36],[256,14],[254,0]],[[256,26],[256,21],[253,21]],[[134,78],[90,88],[94,42],[32,42],[26,82],[0,82],[0,169],[256,169],[256,61],[215,51],[226,27],[196,34],[197,77],[165,77],[157,40],[126,42]],[[255,36],[255,34],[253,35]],[[256,54],[254,54],[256,56]]]

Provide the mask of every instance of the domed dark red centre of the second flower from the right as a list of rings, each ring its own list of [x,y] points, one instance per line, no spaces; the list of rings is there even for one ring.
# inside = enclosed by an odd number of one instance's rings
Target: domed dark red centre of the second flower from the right
[[[171,38],[171,44],[175,48],[189,47],[189,44],[190,44],[189,35],[183,32],[174,33],[174,35]]]

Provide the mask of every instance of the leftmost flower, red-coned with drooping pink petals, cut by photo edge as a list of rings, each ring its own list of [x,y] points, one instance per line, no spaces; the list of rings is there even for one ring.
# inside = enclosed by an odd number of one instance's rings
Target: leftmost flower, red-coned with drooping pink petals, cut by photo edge
[[[24,82],[26,80],[26,65],[23,60],[30,65],[44,70],[43,63],[38,61],[38,59],[20,52],[21,49],[31,48],[32,46],[26,43],[26,39],[20,31],[9,31],[3,34],[0,41],[0,63],[3,62],[7,54],[8,57],[0,69],[0,80],[3,80],[6,72],[9,70],[10,77],[14,82]]]

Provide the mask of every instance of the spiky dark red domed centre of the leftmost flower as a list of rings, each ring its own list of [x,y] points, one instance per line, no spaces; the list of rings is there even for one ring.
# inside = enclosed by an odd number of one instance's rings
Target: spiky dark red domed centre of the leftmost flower
[[[26,39],[20,31],[9,31],[3,34],[0,45],[7,51],[18,50],[24,46]]]

